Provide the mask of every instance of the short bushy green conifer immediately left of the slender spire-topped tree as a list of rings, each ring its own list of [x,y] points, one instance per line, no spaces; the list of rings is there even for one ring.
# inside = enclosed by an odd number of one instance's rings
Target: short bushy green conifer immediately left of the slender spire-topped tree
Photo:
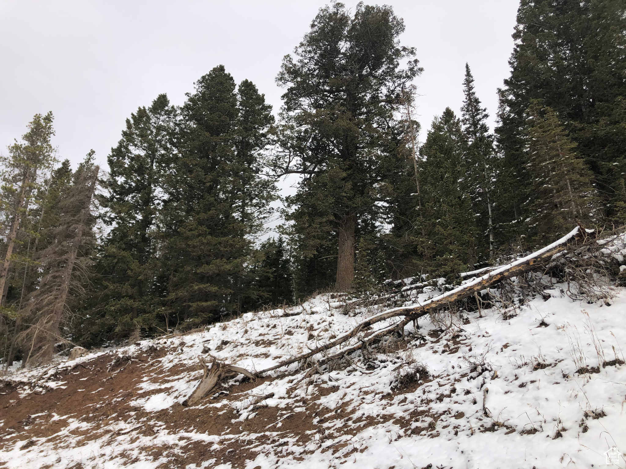
[[[420,148],[422,204],[414,219],[423,273],[456,278],[476,261],[476,224],[469,196],[461,122],[450,108],[435,118]]]

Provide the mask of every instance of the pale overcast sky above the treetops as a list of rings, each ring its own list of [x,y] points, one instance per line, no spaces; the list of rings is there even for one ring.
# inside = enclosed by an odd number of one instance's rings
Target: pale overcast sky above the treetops
[[[356,1],[347,1],[354,8]],[[373,1],[371,3],[374,3]],[[491,114],[508,76],[518,0],[392,0],[424,73],[415,84],[425,135],[446,106],[458,111],[464,64]],[[76,163],[105,165],[125,119],[159,93],[182,104],[193,82],[223,64],[253,81],[276,112],[274,78],[324,1],[0,0],[0,152],[35,113],[53,111],[53,144]]]

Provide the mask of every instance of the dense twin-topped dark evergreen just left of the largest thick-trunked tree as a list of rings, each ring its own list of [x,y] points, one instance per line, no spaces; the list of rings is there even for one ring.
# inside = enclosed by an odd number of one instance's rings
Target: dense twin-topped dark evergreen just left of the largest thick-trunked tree
[[[259,295],[250,288],[247,266],[275,198],[274,184],[261,174],[270,109],[249,81],[236,93],[221,65],[198,80],[181,109],[160,224],[168,275],[164,311],[185,326],[240,311]]]

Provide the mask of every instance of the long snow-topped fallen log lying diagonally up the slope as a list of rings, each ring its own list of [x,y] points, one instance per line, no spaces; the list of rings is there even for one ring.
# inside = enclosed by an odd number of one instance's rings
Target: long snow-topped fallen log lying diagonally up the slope
[[[495,270],[491,270],[483,276],[474,278],[473,280],[470,280],[467,283],[464,283],[463,285],[454,288],[454,290],[446,291],[439,296],[435,296],[434,298],[425,301],[421,305],[402,306],[400,308],[393,308],[391,310],[383,311],[382,313],[379,313],[377,315],[370,316],[366,320],[361,321],[361,323],[359,323],[354,329],[337,337],[335,340],[332,340],[325,345],[321,345],[317,348],[313,348],[307,353],[303,353],[302,355],[294,356],[293,358],[289,358],[288,360],[281,361],[277,365],[270,366],[270,368],[265,368],[265,370],[258,371],[257,376],[268,373],[269,371],[278,370],[283,366],[291,365],[292,363],[296,363],[300,360],[306,360],[307,358],[317,355],[322,351],[326,351],[333,347],[336,347],[337,345],[341,345],[342,343],[345,343],[346,341],[356,336],[364,328],[367,328],[381,321],[396,318],[398,316],[408,316],[409,320],[421,318],[422,316],[426,316],[429,313],[438,310],[442,306],[447,306],[449,303],[454,303],[454,301],[462,300],[463,298],[467,298],[468,296],[473,296],[478,291],[485,290],[485,288],[488,288],[494,283],[497,283],[505,278],[522,275],[530,270],[533,270],[533,268],[535,268],[538,263],[541,263],[541,261],[550,260],[553,258],[553,256],[562,253],[564,250],[566,250],[568,242],[578,238],[582,238],[584,235],[585,230],[582,229],[580,226],[577,226],[576,228],[572,229],[570,233],[563,236],[563,238],[561,238],[560,240],[555,241],[551,245],[545,246],[545,248],[535,251],[528,256],[515,260],[509,264],[497,267],[495,268]],[[406,323],[408,323],[408,321],[406,321]],[[395,326],[396,325],[391,326],[390,328],[385,328],[385,330],[393,329]],[[362,344],[357,344],[356,346],[344,349],[340,353],[335,355],[344,355],[344,353],[347,353],[349,350],[356,350],[357,348],[361,348],[361,346]]]

